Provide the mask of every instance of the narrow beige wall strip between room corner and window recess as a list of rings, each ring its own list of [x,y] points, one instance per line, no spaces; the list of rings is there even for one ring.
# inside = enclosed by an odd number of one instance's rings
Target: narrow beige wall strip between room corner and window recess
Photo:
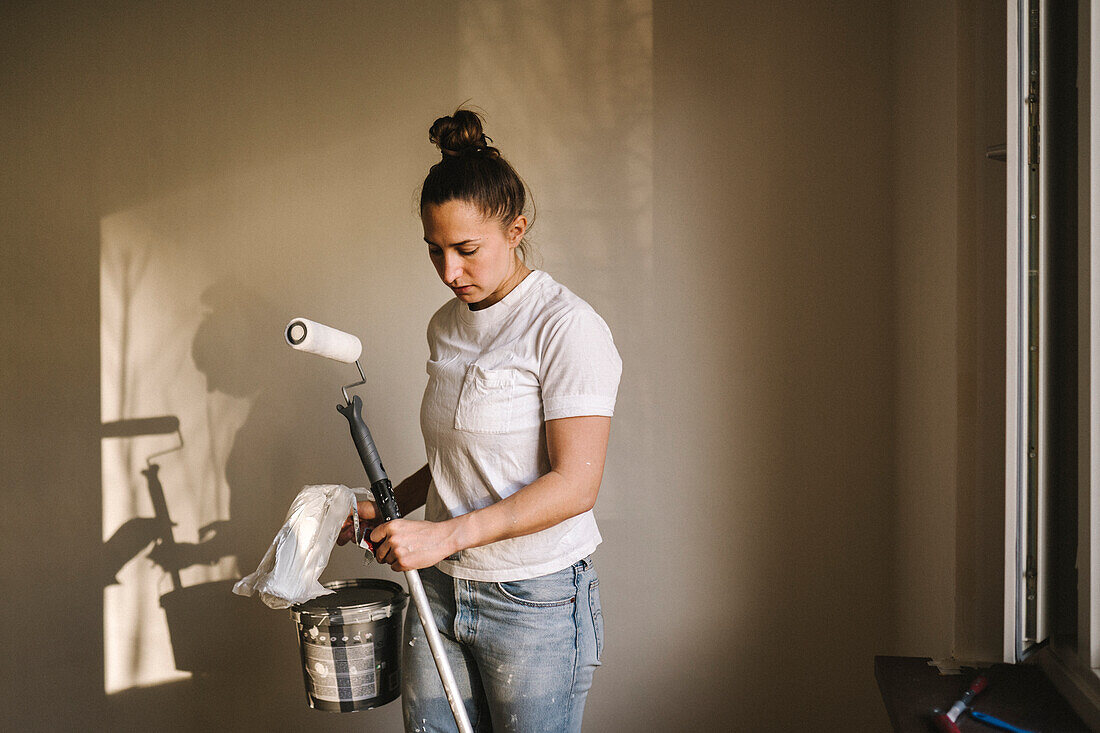
[[[900,648],[947,656],[954,634],[958,460],[958,39],[953,3],[897,3],[891,190],[897,494],[891,517]]]

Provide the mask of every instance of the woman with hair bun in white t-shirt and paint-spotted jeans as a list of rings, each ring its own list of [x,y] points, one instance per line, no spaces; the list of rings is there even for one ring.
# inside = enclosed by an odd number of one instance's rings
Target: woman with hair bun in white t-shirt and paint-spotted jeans
[[[442,158],[420,219],[454,298],[428,326],[428,463],[395,489],[426,521],[371,540],[394,570],[422,569],[475,730],[579,731],[603,646],[592,507],[622,362],[592,307],[525,263],[525,187],[480,117],[460,109],[429,139]],[[377,522],[372,502],[359,514]],[[406,730],[454,730],[411,612],[405,638]]]

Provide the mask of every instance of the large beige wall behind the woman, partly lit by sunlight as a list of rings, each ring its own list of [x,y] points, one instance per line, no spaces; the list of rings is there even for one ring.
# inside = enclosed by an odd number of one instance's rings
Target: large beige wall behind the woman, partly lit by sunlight
[[[980,277],[960,274],[970,42],[953,3],[3,20],[16,727],[399,724],[397,705],[306,709],[290,622],[219,581],[254,567],[302,483],[362,482],[332,411],[346,371],[282,348],[290,316],[363,337],[387,468],[422,460],[424,327],[447,294],[413,201],[427,125],[468,99],[535,190],[546,269],[626,364],[588,727],[882,730],[873,655],[944,656],[980,623],[955,602],[960,314]],[[101,438],[164,415],[185,440],[156,459],[175,538],[202,560],[180,573],[189,616],[251,644],[196,677],[167,656],[172,581],[142,522],[140,471],[173,438]],[[359,573],[353,555],[328,576]]]

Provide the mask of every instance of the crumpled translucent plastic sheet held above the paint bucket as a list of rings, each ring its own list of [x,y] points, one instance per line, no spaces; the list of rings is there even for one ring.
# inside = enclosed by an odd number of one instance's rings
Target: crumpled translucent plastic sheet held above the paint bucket
[[[355,492],[348,486],[322,484],[302,489],[260,567],[239,580],[233,592],[260,593],[261,600],[273,609],[287,609],[332,593],[317,579],[329,564],[329,555],[349,514],[359,536],[355,508]]]

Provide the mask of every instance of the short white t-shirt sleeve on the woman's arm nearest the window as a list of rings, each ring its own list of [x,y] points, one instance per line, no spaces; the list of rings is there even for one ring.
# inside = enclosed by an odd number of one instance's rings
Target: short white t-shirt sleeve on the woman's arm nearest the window
[[[543,419],[615,413],[623,361],[610,329],[591,307],[554,319],[539,366]]]

